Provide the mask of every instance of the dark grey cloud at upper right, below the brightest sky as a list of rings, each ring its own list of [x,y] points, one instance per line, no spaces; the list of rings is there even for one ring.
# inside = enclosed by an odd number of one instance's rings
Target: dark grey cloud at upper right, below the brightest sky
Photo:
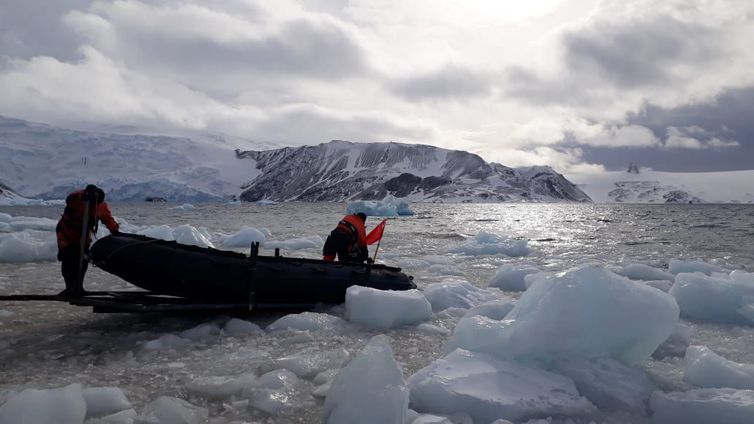
[[[602,22],[563,38],[564,60],[574,74],[623,88],[668,83],[675,65],[703,64],[721,54],[719,33],[670,16]]]

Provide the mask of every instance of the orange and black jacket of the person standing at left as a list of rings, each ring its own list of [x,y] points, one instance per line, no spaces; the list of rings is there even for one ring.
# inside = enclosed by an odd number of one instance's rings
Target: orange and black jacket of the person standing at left
[[[55,228],[58,236],[58,250],[81,242],[81,232],[84,225],[84,205],[86,205],[86,194],[84,190],[74,191],[65,199],[65,210],[63,216],[58,221]],[[118,232],[118,223],[113,219],[110,213],[110,207],[107,203],[102,202],[95,206],[94,202],[89,202],[89,231],[87,231],[86,246],[92,242],[92,232],[97,220],[110,230],[111,233]]]

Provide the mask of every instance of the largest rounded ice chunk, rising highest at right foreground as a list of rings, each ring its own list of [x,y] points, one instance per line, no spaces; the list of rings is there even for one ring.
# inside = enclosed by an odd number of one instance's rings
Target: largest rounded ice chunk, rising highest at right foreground
[[[538,279],[502,321],[462,319],[446,351],[549,361],[559,355],[647,359],[678,322],[673,297],[597,266]]]

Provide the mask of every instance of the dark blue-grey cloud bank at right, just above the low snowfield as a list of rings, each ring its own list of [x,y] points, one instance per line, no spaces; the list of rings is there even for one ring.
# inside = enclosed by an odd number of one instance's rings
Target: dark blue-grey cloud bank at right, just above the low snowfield
[[[630,114],[629,124],[649,128],[668,141],[676,131],[705,148],[608,149],[585,148],[584,158],[621,169],[628,162],[664,171],[723,171],[754,169],[754,87],[729,90],[713,101],[675,109],[648,105]],[[716,146],[714,140],[737,143]]]

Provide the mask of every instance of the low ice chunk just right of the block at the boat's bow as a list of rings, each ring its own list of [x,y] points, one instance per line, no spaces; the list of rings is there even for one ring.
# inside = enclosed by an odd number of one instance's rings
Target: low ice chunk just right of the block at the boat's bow
[[[424,297],[434,312],[448,308],[469,309],[484,302],[508,299],[497,289],[482,289],[465,280],[432,283],[424,288]]]

